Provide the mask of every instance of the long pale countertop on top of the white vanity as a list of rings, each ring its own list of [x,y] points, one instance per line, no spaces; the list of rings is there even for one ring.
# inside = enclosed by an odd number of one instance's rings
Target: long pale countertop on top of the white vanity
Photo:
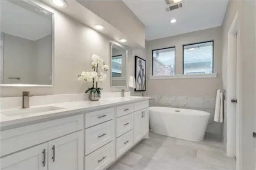
[[[123,105],[126,103],[132,103],[136,101],[143,101],[150,99],[150,97],[112,97],[104,98],[99,101],[74,101],[65,103],[54,103],[51,105],[39,105],[30,108],[39,107],[61,107],[63,109],[58,109],[54,111],[45,111],[38,113],[19,113],[19,114],[4,114],[8,111],[17,111],[21,108],[13,109],[1,109],[1,131],[10,128],[22,127],[26,125],[31,125],[35,123],[40,123],[44,121],[49,121],[53,119],[58,119],[61,117],[68,117],[72,115],[82,114],[82,112],[89,112],[96,109],[102,109],[105,107],[111,107],[114,105]]]

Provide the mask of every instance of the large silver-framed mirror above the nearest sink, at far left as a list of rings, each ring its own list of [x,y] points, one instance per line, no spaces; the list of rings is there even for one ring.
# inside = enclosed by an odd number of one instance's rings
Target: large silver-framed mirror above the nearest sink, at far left
[[[31,1],[0,5],[1,86],[53,86],[53,13]]]

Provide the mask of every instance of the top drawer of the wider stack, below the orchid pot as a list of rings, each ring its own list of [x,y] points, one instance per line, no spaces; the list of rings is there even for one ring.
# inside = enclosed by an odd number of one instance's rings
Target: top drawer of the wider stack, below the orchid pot
[[[102,109],[100,111],[85,113],[85,117],[84,117],[85,128],[100,124],[102,122],[109,121],[113,118],[114,118],[114,107],[109,109]]]

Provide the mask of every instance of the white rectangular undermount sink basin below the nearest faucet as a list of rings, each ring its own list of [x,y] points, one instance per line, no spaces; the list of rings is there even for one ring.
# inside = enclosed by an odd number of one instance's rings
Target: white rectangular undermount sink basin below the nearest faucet
[[[46,106],[46,107],[36,107],[36,108],[26,108],[26,109],[13,109],[8,111],[1,111],[1,114],[8,115],[8,116],[17,116],[17,115],[24,115],[24,114],[31,114],[31,113],[41,113],[41,112],[48,112],[48,111],[56,111],[60,109],[65,109],[62,107],[55,107],[55,106]]]

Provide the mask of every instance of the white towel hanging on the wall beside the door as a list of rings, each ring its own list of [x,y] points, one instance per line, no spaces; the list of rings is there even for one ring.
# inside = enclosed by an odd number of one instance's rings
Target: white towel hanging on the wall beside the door
[[[217,90],[214,121],[215,122],[223,122],[223,93],[222,93],[222,90]]]

